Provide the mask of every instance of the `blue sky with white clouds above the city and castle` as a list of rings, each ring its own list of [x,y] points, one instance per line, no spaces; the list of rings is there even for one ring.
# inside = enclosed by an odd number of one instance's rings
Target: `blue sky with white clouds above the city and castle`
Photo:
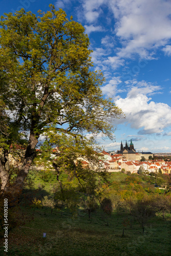
[[[104,97],[126,115],[115,120],[118,150],[133,140],[137,151],[171,152],[171,1],[170,0],[6,0],[1,15],[20,8],[36,13],[49,4],[62,8],[89,35],[94,69],[106,78]],[[101,137],[99,136],[99,140]]]

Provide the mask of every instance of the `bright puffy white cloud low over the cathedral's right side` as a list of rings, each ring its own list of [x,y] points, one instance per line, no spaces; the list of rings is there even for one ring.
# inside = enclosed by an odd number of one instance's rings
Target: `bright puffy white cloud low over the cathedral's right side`
[[[148,83],[141,88],[131,88],[126,98],[117,99],[116,105],[126,115],[126,119],[118,122],[126,121],[132,128],[141,129],[139,135],[161,133],[165,127],[171,125],[171,108],[165,103],[151,101],[148,97],[158,90],[158,86]]]

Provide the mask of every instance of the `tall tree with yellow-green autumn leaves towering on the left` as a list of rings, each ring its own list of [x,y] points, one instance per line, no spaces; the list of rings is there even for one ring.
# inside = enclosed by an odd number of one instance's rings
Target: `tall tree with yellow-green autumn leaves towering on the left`
[[[10,118],[10,135],[0,129],[4,138],[0,176],[2,189],[18,193],[45,131],[53,127],[73,136],[86,131],[112,138],[110,122],[122,111],[103,98],[104,79],[91,69],[89,38],[62,9],[50,5],[50,11],[38,11],[38,16],[24,9],[5,13],[0,25],[0,87]],[[6,168],[9,148],[24,135],[28,137],[25,155],[11,188],[9,165]]]

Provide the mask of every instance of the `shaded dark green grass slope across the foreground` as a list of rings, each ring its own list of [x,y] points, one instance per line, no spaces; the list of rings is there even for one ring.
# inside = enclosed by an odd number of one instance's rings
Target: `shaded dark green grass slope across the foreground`
[[[140,225],[128,223],[122,237],[123,220],[131,217],[120,213],[118,221],[114,212],[111,218],[97,210],[88,216],[79,211],[79,216],[72,219],[69,210],[62,217],[56,210],[24,207],[27,215],[34,215],[33,221],[14,228],[9,234],[8,255],[163,255],[169,256],[170,250],[170,215],[162,220],[161,216],[152,219],[145,226],[143,234]],[[10,220],[9,220],[10,221]],[[109,226],[107,226],[107,221]],[[47,237],[42,238],[46,232]],[[0,249],[3,254],[3,248]]]

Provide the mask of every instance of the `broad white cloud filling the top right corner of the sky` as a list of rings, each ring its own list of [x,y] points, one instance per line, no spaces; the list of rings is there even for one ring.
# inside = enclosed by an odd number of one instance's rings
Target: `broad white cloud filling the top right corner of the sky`
[[[149,49],[164,46],[171,37],[171,3],[163,0],[109,1],[117,19],[116,35],[124,42],[118,56],[152,58]]]

